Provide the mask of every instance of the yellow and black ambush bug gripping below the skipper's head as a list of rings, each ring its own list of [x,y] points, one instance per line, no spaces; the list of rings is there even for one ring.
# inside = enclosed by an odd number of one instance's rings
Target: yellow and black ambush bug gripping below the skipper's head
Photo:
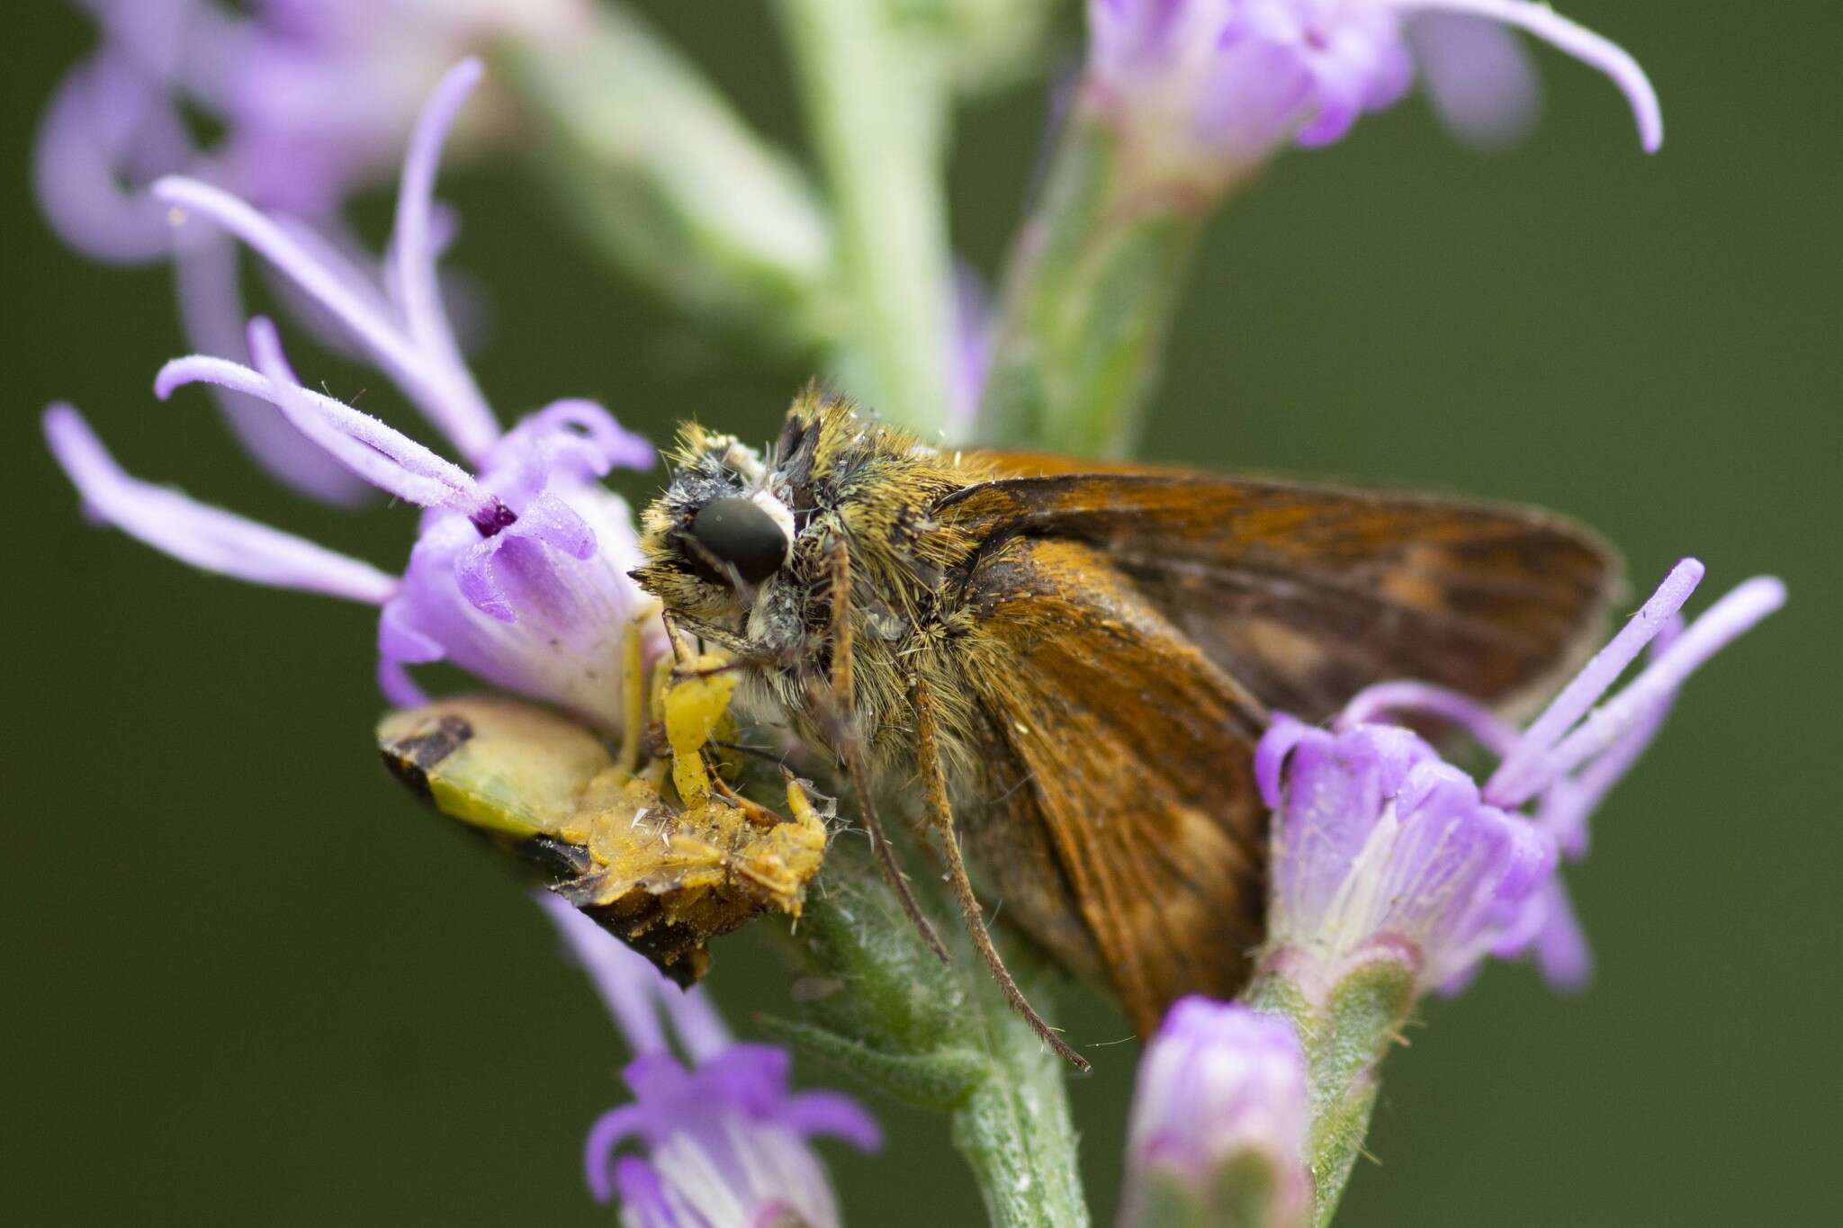
[[[706,944],[763,911],[798,917],[826,854],[826,823],[787,777],[787,814],[728,788],[708,762],[726,735],[735,674],[702,655],[656,670],[654,725],[669,753],[643,759],[638,635],[619,753],[581,725],[505,698],[457,698],[378,725],[391,771],[529,865],[540,882],[645,954],[680,985]]]

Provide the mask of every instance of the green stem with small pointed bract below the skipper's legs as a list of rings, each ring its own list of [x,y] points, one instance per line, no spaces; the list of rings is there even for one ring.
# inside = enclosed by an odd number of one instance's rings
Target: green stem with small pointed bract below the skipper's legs
[[[805,1020],[761,1018],[761,1029],[886,1095],[947,1112],[995,1226],[1084,1228],[1060,1059],[969,950],[951,967],[929,952],[866,858],[835,841],[822,884],[789,943]]]

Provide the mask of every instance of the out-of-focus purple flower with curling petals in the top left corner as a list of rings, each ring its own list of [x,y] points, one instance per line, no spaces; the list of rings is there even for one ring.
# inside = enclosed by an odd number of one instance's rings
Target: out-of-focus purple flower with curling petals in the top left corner
[[[101,46],[59,85],[39,125],[33,184],[57,234],[107,261],[173,258],[186,335],[201,352],[241,353],[232,247],[210,228],[175,236],[147,193],[194,175],[288,217],[302,241],[356,247],[339,208],[398,160],[417,110],[466,50],[569,39],[584,0],[79,0]],[[221,125],[201,147],[186,110]],[[472,134],[505,127],[479,110]],[[328,503],[365,488],[282,418],[225,392],[236,436],[275,477]]]

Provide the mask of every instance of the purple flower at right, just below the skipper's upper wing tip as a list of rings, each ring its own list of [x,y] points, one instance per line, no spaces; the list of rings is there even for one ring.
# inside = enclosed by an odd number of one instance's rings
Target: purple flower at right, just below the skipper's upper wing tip
[[[1310,992],[1391,957],[1419,991],[1452,991],[1487,954],[1533,952],[1557,985],[1583,981],[1587,944],[1557,860],[1585,854],[1587,816],[1644,751],[1683,679],[1784,604],[1784,585],[1760,576],[1679,631],[1677,609],[1701,574],[1696,560],[1679,563],[1528,729],[1421,683],[1371,687],[1332,731],[1277,716],[1255,753],[1274,808],[1270,965]],[[1594,707],[1653,641],[1644,672]],[[1384,712],[1456,724],[1500,757],[1498,770],[1480,788],[1414,733],[1375,724]]]

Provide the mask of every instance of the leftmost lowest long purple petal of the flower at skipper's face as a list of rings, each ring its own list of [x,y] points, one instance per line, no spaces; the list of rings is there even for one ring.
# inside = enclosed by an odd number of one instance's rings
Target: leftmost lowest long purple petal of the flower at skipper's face
[[[370,563],[129,477],[68,405],[44,412],[44,438],[92,516],[181,562],[372,606],[396,593],[398,580]]]

